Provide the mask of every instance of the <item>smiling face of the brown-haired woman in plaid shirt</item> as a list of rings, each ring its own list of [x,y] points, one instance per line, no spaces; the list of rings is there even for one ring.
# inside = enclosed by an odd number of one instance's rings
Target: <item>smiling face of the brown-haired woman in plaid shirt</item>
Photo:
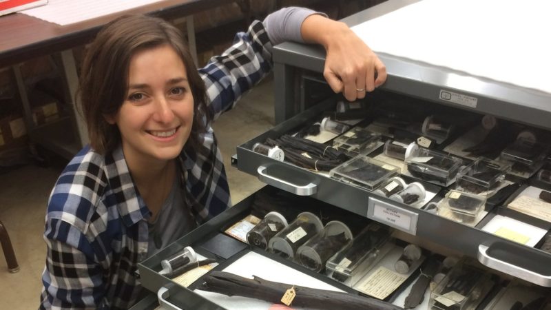
[[[125,101],[106,118],[121,132],[127,161],[152,163],[180,154],[193,117],[185,64],[173,48],[160,45],[132,56]]]

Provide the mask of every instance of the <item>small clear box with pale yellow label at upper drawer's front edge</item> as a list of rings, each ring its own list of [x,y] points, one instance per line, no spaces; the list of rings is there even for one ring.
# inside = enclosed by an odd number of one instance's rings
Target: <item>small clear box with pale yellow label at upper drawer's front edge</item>
[[[453,220],[459,223],[473,224],[480,211],[484,209],[486,197],[477,194],[450,190],[438,205],[439,209],[448,208]]]

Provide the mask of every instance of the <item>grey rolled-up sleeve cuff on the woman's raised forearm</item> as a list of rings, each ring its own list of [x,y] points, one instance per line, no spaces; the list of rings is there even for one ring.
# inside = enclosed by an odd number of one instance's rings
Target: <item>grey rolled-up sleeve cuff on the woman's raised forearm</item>
[[[304,43],[300,34],[300,27],[304,19],[312,14],[320,14],[327,17],[324,13],[315,12],[307,8],[289,7],[269,14],[262,23],[267,30],[272,45],[277,45],[284,41]]]

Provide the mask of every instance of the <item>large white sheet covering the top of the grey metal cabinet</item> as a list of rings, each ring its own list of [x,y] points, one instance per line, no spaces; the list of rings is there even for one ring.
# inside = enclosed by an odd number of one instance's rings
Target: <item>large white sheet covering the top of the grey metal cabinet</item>
[[[353,27],[375,52],[551,93],[551,1],[423,0]]]

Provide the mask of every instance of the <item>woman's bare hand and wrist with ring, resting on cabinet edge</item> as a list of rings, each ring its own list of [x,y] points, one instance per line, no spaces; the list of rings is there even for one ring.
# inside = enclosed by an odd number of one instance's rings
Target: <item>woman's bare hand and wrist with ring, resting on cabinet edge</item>
[[[347,100],[362,99],[386,81],[384,63],[344,23],[314,14],[304,20],[301,32],[304,41],[324,45],[324,77]]]

